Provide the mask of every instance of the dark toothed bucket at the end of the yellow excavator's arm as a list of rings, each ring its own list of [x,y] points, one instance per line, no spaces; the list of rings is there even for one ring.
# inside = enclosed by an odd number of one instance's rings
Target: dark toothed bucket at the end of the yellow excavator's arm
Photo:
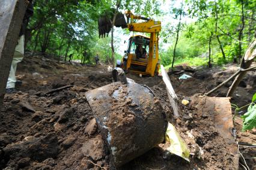
[[[114,19],[114,14],[108,15],[104,14],[98,19],[98,29],[99,29],[99,38],[108,36],[109,32],[112,28],[112,21]],[[124,18],[124,14],[117,12],[117,16],[115,17],[115,24],[114,26],[126,28],[127,23],[126,19]]]

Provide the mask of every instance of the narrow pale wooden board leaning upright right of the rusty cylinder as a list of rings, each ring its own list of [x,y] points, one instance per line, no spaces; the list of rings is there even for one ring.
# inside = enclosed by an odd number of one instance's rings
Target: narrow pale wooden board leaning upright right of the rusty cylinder
[[[173,113],[175,117],[178,117],[178,97],[175,94],[175,91],[171,85],[171,81],[169,79],[168,74],[165,71],[165,68],[163,65],[161,65],[161,71],[162,71],[162,77],[163,77],[163,82],[165,82],[166,85],[166,90],[169,98],[169,102],[171,103]]]

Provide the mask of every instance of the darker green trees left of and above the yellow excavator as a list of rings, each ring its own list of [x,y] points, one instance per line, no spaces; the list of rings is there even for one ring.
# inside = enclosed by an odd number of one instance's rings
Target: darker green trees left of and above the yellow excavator
[[[34,16],[26,30],[26,49],[49,53],[59,60],[73,59],[94,62],[99,53],[102,62],[111,56],[110,38],[99,39],[97,19],[121,2],[119,10],[133,10],[144,16],[159,14],[160,0],[90,0],[90,1],[34,1]],[[114,46],[117,48],[118,40]],[[120,58],[120,55],[116,57]]]

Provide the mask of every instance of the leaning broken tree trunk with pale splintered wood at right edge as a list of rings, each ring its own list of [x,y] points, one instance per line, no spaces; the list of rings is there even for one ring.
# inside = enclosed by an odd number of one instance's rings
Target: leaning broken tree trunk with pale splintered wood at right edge
[[[245,55],[243,56],[243,59],[240,64],[240,68],[246,69],[249,68],[252,62],[254,61],[254,58],[256,56],[256,40],[252,41],[252,43],[249,45],[248,49],[245,52]],[[236,90],[236,87],[239,85],[240,81],[243,79],[243,76],[245,76],[247,71],[243,71],[239,75],[236,76],[234,79],[234,82],[232,83],[230,90],[228,90],[227,97],[231,97]]]

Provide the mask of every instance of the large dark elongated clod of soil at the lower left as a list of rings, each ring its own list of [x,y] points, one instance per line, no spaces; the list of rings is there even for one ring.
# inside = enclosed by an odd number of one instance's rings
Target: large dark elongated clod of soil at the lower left
[[[9,144],[3,150],[5,156],[10,157],[10,159],[29,157],[32,160],[42,161],[48,157],[56,157],[58,154],[58,139],[55,133],[49,133],[47,136],[40,138]]]

